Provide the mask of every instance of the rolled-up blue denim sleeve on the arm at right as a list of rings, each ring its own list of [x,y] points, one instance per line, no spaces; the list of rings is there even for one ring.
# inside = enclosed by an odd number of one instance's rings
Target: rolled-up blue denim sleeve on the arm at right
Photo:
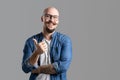
[[[53,63],[57,73],[66,72],[72,60],[72,42],[66,37],[62,40],[62,48],[60,53],[60,60]]]

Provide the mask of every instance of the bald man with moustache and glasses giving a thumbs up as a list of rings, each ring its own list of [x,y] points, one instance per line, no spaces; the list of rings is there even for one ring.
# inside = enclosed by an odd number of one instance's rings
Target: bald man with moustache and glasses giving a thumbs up
[[[55,31],[59,11],[55,7],[46,8],[41,21],[43,31],[25,42],[22,70],[31,72],[29,80],[67,80],[72,44],[69,37]]]

